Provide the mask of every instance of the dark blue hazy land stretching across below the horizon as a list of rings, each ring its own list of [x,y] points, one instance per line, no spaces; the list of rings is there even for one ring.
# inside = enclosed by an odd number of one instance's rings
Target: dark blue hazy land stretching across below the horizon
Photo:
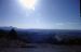
[[[64,43],[68,42],[70,40],[75,42],[75,40],[81,40],[81,30],[66,30],[66,29],[21,29],[15,27],[0,27],[2,29],[0,35],[4,35],[10,37],[14,37],[15,39],[15,32],[17,35],[17,38],[26,41],[26,42],[38,42],[38,43]],[[11,30],[14,29],[14,30]],[[10,30],[8,32],[8,30]],[[13,32],[12,32],[13,31]],[[79,41],[80,41],[79,40]]]

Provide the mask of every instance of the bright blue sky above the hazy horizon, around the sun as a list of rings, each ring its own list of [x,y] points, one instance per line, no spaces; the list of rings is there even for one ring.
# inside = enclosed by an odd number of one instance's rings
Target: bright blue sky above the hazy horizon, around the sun
[[[37,0],[28,9],[19,0],[0,0],[0,26],[81,29],[79,0]]]

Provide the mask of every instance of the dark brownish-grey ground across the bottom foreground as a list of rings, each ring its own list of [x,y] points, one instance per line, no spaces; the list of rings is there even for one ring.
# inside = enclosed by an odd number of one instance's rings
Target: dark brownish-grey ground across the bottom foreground
[[[26,43],[19,39],[0,38],[0,52],[81,52],[81,46]]]

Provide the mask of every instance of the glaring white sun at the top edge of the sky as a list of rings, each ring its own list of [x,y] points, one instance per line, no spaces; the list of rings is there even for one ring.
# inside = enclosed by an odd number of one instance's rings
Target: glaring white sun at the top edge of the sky
[[[19,0],[23,6],[35,10],[36,0]]]

